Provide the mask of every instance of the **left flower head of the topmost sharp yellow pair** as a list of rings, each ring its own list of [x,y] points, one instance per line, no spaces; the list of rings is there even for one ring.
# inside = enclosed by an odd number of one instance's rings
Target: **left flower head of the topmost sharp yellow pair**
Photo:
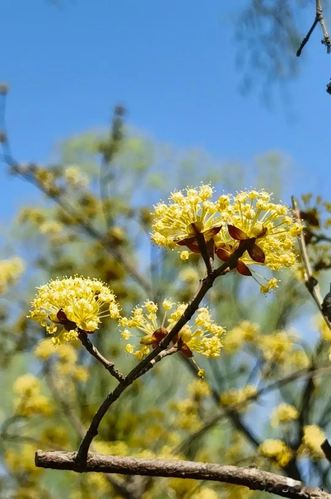
[[[212,196],[210,184],[187,188],[186,196],[182,191],[174,191],[169,205],[160,202],[154,206],[152,240],[173,250],[183,240],[193,238],[193,241],[197,233],[203,233],[206,239],[212,237],[223,223],[219,203],[210,201]],[[181,253],[182,259],[187,257],[187,252],[183,256]]]

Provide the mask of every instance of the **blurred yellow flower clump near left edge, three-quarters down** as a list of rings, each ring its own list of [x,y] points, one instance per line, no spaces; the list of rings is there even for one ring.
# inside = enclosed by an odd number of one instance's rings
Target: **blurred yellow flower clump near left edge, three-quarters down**
[[[53,414],[54,408],[49,399],[40,394],[40,380],[32,374],[17,378],[13,384],[13,391],[18,395],[13,401],[15,414],[19,416],[32,414],[51,416]]]

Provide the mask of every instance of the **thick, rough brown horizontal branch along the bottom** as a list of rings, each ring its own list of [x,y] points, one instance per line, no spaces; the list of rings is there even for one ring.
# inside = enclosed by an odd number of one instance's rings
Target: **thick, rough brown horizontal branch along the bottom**
[[[291,499],[331,499],[318,487],[302,487],[302,483],[282,475],[275,475],[258,468],[237,468],[209,463],[175,461],[163,459],[137,459],[122,456],[105,456],[89,453],[86,463],[77,464],[75,452],[43,452],[35,454],[38,468],[70,470],[77,473],[103,472],[121,475],[142,475],[148,477],[175,477],[208,480],[248,487],[251,490],[267,491]]]

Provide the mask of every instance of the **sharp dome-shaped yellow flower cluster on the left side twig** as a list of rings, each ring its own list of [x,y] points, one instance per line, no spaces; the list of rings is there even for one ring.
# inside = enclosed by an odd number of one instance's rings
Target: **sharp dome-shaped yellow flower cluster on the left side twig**
[[[31,319],[40,322],[52,334],[54,345],[77,337],[77,329],[93,332],[103,317],[119,316],[114,293],[103,282],[83,277],[55,279],[40,286],[31,302]]]

